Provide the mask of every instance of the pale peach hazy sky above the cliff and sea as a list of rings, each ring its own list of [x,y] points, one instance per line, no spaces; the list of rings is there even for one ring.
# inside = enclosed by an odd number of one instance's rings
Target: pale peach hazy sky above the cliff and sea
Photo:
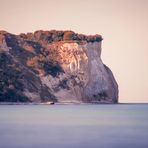
[[[0,0],[0,30],[101,34],[120,102],[148,102],[148,0]]]

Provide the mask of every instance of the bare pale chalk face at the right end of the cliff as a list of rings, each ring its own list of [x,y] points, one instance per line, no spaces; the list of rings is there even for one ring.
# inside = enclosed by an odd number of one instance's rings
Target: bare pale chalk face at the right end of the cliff
[[[52,88],[59,102],[118,102],[118,85],[100,57],[101,42],[64,42],[57,48],[65,73],[58,78],[46,76],[41,79]],[[65,88],[54,91],[59,81],[65,82]]]

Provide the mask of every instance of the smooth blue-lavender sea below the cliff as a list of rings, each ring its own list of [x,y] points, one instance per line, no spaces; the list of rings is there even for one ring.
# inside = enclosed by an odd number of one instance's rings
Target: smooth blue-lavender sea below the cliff
[[[0,148],[148,148],[148,104],[1,105]]]

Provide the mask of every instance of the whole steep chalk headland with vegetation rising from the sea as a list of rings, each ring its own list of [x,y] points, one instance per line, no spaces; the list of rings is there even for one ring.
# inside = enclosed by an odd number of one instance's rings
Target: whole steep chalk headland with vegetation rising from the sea
[[[117,103],[100,35],[0,31],[0,102]]]

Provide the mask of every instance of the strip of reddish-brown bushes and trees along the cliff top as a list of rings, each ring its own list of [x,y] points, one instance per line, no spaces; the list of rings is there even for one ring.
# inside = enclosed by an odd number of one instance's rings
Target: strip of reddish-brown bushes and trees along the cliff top
[[[10,34],[6,31],[0,31],[0,35],[7,35]],[[13,35],[13,34],[11,34]],[[100,42],[102,41],[101,35],[84,35],[78,34],[73,31],[57,31],[57,30],[50,30],[50,31],[43,31],[37,30],[34,33],[21,33],[16,35],[17,37],[27,39],[27,40],[42,40],[48,43],[52,43],[55,41],[86,41],[86,42]]]

